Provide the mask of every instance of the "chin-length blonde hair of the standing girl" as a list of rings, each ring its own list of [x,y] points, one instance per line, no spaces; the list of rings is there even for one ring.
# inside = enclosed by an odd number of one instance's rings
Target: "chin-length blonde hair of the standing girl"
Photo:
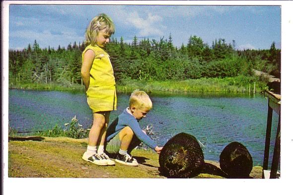
[[[86,32],[85,32],[85,44],[94,46],[96,44],[96,37],[99,34],[99,31],[106,29],[106,33],[114,34],[115,26],[112,19],[104,14],[101,13],[100,15],[95,16],[90,21]]]

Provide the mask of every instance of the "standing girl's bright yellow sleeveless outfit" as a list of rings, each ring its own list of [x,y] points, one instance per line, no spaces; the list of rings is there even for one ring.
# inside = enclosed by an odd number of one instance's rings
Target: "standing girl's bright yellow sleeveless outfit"
[[[87,50],[92,50],[95,54],[89,72],[87,104],[93,113],[117,110],[116,82],[109,55],[100,47],[89,45],[82,52],[82,62]]]

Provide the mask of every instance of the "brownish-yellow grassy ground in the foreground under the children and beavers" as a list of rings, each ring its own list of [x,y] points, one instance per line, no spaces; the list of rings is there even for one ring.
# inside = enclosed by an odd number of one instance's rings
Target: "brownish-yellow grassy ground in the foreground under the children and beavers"
[[[158,155],[152,150],[132,152],[138,167],[116,163],[97,166],[81,159],[87,139],[69,137],[10,137],[8,142],[8,177],[23,178],[165,178],[159,174]],[[218,167],[219,162],[206,161]],[[261,178],[262,167],[250,174]],[[197,178],[221,178],[200,174]]]

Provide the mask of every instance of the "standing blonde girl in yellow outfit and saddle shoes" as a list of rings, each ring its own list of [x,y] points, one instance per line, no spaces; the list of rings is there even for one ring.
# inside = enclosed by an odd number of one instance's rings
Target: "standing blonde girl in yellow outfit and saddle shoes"
[[[81,77],[87,103],[93,112],[87,150],[82,159],[101,166],[115,165],[104,153],[104,141],[110,111],[117,107],[116,83],[109,55],[102,49],[114,31],[114,23],[110,17],[106,14],[95,16],[87,27],[85,43],[88,46],[82,53]]]

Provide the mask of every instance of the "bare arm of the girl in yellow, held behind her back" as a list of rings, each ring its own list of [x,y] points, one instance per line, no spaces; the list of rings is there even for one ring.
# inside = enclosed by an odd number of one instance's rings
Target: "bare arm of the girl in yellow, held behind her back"
[[[89,86],[89,71],[92,66],[95,54],[92,50],[87,50],[83,57],[83,63],[81,66],[81,78],[85,86],[85,91],[87,91]]]

